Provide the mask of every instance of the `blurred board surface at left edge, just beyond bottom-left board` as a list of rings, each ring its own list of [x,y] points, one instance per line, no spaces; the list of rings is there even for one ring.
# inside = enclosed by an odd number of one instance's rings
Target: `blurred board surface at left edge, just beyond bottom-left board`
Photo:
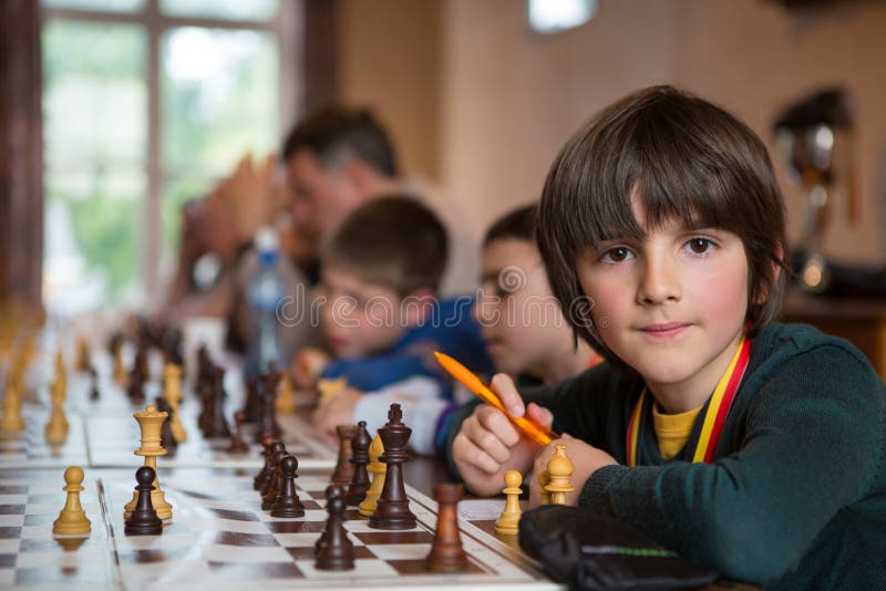
[[[68,415],[68,438],[59,445],[47,443],[48,407],[28,406],[22,409],[22,415],[24,431],[0,433],[0,468],[60,468],[89,464],[86,438],[79,414]]]

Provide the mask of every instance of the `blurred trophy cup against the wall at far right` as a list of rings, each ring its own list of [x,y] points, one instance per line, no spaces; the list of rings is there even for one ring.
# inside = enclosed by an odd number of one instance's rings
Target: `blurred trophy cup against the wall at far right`
[[[838,195],[845,195],[849,220],[857,218],[851,175],[853,122],[847,103],[839,89],[817,92],[790,105],[773,126],[777,151],[806,196],[797,245],[802,252],[799,280],[811,293],[824,292],[831,282],[824,237]]]

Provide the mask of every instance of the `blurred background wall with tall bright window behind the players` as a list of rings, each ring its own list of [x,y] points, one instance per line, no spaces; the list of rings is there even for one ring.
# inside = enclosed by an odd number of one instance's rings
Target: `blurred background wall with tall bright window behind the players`
[[[71,8],[86,4],[143,8]],[[216,17],[161,10],[197,4]],[[236,34],[219,20],[262,6]],[[449,284],[470,289],[488,222],[538,197],[583,121],[657,83],[722,104],[771,149],[786,105],[842,86],[856,199],[834,196],[825,255],[886,260],[883,0],[599,0],[549,35],[526,0],[7,0],[0,15],[0,297],[146,303],[175,262],[182,205],[331,101],[388,124],[451,228]],[[773,160],[796,240],[806,198]]]

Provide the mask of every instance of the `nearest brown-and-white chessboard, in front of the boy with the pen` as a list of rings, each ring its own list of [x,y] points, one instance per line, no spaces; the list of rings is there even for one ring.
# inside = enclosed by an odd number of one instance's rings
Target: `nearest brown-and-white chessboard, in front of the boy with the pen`
[[[215,470],[214,473],[217,473]],[[305,517],[277,519],[260,509],[251,476],[212,476],[184,469],[161,476],[166,499],[173,505],[172,523],[159,537],[116,536],[121,577],[134,588],[175,584],[213,587],[238,581],[247,587],[312,588],[322,585],[390,589],[434,588],[452,584],[502,588],[555,588],[525,559],[478,529],[463,535],[470,568],[457,574],[425,570],[436,527],[434,507],[413,500],[419,525],[406,531],[380,531],[354,509],[346,512],[344,528],[354,545],[354,569],[319,571],[313,545],[326,527],[323,491],[328,473],[305,470],[297,479]],[[123,528],[122,507],[132,498],[128,483],[107,485],[112,530]],[[409,489],[409,494],[421,495]],[[468,526],[470,527],[470,526]],[[492,542],[492,543],[491,543]]]

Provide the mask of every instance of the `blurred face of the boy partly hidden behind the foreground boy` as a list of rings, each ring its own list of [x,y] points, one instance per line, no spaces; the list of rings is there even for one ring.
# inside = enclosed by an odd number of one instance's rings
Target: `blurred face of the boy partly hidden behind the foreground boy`
[[[474,318],[499,372],[539,375],[552,357],[571,354],[571,329],[550,292],[538,249],[528,240],[493,240],[483,251]]]

